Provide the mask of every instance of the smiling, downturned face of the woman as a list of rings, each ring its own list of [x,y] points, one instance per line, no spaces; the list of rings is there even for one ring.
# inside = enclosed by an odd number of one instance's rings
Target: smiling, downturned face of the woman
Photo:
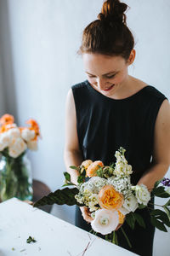
[[[128,79],[127,67],[131,64],[122,56],[83,53],[82,61],[88,82],[105,96],[114,96],[122,90]]]

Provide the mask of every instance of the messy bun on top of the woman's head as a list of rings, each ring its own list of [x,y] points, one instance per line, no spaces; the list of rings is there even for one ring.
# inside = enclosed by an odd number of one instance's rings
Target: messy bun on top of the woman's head
[[[126,15],[124,14],[126,9],[126,3],[120,3],[119,0],[107,0],[102,6],[98,19],[114,23],[119,22],[126,25]]]

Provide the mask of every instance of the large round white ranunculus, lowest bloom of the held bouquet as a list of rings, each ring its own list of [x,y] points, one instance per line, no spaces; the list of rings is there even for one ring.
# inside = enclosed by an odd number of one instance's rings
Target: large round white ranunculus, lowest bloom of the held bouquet
[[[113,230],[116,230],[118,224],[118,212],[106,209],[97,210],[95,212],[95,218],[91,222],[92,229],[102,235],[110,234]]]

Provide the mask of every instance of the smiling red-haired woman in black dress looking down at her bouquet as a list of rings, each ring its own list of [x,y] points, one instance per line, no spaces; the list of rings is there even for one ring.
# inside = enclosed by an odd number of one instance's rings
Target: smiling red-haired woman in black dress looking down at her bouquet
[[[170,106],[160,91],[128,75],[135,50],[126,9],[118,0],[105,1],[99,19],[83,32],[80,53],[88,80],[73,85],[67,96],[65,166],[77,183],[77,171],[68,166],[79,166],[87,159],[109,165],[123,147],[133,166],[132,183],[144,183],[151,191],[170,163]],[[123,224],[132,249],[119,227],[118,242],[139,255],[152,255],[155,230],[147,209],[140,214],[145,230],[138,224],[134,230]],[[77,208],[77,226],[90,230],[91,220],[87,207],[81,207],[81,212]]]

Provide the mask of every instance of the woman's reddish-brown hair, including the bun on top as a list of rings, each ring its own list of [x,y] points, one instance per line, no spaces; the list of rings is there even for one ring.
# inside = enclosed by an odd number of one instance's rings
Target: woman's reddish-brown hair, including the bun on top
[[[127,27],[126,9],[127,4],[119,0],[105,1],[98,20],[84,29],[78,53],[121,55],[127,60],[134,47],[134,38]]]

